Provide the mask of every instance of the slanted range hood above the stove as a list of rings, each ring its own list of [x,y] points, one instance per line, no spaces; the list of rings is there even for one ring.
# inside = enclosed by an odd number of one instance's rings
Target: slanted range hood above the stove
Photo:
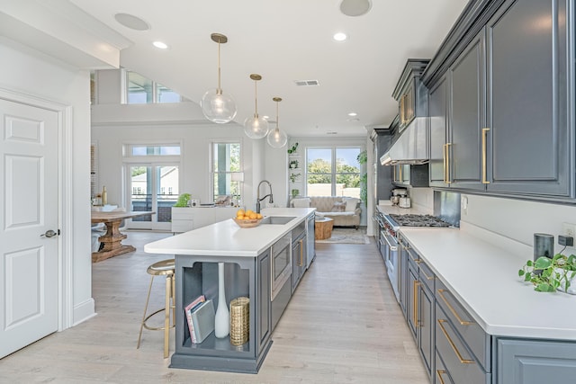
[[[428,163],[428,129],[426,117],[417,117],[402,130],[392,147],[380,157],[382,165],[420,165]]]

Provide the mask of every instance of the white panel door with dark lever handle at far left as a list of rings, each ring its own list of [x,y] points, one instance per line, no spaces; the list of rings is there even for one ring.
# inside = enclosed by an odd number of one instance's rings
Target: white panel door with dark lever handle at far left
[[[0,99],[0,169],[2,358],[58,330],[58,112]]]

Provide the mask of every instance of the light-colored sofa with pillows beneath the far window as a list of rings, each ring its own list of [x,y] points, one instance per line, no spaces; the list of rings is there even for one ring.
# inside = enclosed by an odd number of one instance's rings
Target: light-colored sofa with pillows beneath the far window
[[[360,225],[360,199],[346,196],[308,196],[293,199],[294,208],[316,208],[316,215],[334,220],[336,227],[354,227]]]

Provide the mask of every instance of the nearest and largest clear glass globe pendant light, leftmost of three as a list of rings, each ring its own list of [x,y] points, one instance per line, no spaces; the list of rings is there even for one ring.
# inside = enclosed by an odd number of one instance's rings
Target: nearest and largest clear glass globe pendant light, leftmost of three
[[[218,124],[232,121],[236,117],[236,103],[231,94],[224,94],[220,87],[220,44],[228,38],[220,33],[212,33],[211,40],[218,43],[218,88],[211,89],[202,96],[202,112],[206,119]]]

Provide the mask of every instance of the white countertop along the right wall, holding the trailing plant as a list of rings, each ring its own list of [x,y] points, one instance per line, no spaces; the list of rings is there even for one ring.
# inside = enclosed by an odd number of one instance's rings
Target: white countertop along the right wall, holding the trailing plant
[[[518,277],[532,255],[512,255],[456,228],[401,234],[488,334],[576,340],[576,296],[537,292]]]

